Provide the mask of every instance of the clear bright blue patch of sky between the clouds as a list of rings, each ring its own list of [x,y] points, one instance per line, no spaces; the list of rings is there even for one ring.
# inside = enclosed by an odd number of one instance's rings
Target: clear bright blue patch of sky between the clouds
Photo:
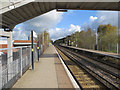
[[[89,22],[90,16],[96,16],[97,11],[88,10],[69,10],[63,14],[63,18],[60,23],[57,24],[59,28],[69,27],[70,24],[82,25]]]

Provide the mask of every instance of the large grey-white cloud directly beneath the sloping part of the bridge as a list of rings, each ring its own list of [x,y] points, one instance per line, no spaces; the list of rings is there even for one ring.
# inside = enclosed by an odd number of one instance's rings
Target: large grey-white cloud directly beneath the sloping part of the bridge
[[[56,10],[45,13],[44,15],[38,16],[32,20],[25,22],[25,24],[30,24],[35,27],[46,27],[53,28],[62,19],[63,12],[56,12]]]

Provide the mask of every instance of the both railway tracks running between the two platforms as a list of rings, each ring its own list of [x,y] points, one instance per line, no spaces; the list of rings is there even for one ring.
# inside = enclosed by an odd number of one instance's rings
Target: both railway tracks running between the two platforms
[[[82,88],[120,89],[120,78],[116,68],[93,61],[63,47],[57,46],[57,48],[70,59],[69,62],[74,63],[70,64],[69,68]],[[68,61],[67,64],[69,65]],[[84,76],[87,79],[84,79]]]

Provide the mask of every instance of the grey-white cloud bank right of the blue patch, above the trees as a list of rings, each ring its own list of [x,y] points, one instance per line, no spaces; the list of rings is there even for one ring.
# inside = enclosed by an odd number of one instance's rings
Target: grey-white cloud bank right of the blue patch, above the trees
[[[81,26],[82,29],[86,30],[88,27],[97,29],[101,24],[111,24],[118,26],[118,12],[117,11],[98,11],[96,16],[90,16],[89,22]],[[87,28],[86,28],[87,27]]]

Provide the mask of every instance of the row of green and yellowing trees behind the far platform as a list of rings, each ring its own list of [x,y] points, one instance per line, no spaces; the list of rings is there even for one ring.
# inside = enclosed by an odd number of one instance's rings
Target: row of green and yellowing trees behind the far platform
[[[98,50],[114,53],[117,52],[118,31],[116,26],[112,26],[110,24],[99,25],[97,28],[97,34]],[[82,30],[81,32],[75,32],[70,36],[55,41],[55,43],[65,43],[66,45],[76,46],[80,48],[95,49],[96,31],[88,28],[87,31]]]

